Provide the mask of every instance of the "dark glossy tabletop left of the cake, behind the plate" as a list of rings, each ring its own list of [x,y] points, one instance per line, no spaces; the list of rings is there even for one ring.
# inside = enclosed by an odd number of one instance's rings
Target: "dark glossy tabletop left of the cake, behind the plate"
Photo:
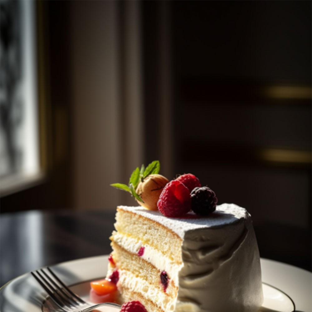
[[[46,265],[109,254],[115,211],[27,211],[0,217],[0,284]]]

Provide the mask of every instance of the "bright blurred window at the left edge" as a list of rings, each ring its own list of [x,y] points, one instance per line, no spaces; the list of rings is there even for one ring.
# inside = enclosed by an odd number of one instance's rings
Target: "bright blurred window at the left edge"
[[[1,1],[1,195],[40,177],[36,3]]]

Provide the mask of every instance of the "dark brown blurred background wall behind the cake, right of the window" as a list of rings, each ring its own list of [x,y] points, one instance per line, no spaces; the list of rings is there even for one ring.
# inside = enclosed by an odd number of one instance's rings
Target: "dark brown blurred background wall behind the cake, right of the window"
[[[133,204],[109,184],[159,159],[246,207],[261,256],[311,270],[311,2],[35,7],[42,174],[2,175],[1,212]]]

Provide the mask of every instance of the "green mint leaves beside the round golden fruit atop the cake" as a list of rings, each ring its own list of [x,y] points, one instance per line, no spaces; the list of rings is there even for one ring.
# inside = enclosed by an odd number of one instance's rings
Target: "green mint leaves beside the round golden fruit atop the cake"
[[[159,160],[154,160],[146,168],[144,167],[144,164],[141,166],[141,169],[139,167],[135,168],[129,178],[128,185],[122,183],[113,183],[110,184],[110,186],[129,192],[137,200],[139,200],[140,202],[144,202],[142,198],[135,192],[135,190],[137,189],[141,181],[147,178],[150,174],[158,174],[159,171]]]

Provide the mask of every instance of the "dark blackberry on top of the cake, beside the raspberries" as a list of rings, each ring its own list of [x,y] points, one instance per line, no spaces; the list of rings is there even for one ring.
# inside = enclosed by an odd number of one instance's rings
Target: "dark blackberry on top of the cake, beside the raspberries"
[[[191,192],[191,200],[193,212],[201,216],[214,212],[218,202],[215,192],[207,186],[194,188]]]

